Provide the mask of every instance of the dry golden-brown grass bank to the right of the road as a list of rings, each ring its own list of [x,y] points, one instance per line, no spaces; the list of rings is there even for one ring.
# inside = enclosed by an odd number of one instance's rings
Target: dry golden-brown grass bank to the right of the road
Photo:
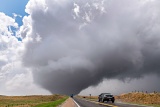
[[[115,97],[125,102],[139,104],[160,104],[160,93],[127,93]]]

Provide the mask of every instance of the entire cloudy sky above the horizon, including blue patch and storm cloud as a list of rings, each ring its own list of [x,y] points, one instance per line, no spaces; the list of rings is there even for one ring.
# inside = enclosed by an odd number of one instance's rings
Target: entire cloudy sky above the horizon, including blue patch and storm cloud
[[[159,0],[0,3],[0,95],[153,92],[159,76]]]

